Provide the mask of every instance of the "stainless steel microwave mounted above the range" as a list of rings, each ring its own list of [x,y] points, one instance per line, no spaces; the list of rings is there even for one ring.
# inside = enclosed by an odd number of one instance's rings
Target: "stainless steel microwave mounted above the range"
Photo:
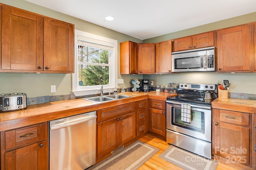
[[[172,72],[215,71],[215,48],[172,53]]]

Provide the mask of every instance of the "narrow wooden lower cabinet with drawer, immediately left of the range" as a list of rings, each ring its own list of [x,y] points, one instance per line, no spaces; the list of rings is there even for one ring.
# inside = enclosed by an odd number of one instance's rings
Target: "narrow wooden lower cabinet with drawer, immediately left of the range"
[[[166,102],[149,100],[149,133],[166,141]]]

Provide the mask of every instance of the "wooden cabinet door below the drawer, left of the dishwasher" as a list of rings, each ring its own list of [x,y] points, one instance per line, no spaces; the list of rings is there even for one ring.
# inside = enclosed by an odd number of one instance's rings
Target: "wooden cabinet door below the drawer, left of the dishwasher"
[[[46,141],[5,153],[5,170],[47,170]]]

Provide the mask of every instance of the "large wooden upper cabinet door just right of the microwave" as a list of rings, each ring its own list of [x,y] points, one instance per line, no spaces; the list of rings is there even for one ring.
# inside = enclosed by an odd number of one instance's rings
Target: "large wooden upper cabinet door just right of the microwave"
[[[251,24],[217,31],[218,72],[251,71]]]

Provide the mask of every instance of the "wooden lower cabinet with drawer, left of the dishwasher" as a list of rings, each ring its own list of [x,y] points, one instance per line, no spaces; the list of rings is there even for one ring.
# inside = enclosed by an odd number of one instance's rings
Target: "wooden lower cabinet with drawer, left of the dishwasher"
[[[1,170],[48,170],[48,123],[1,132]]]

